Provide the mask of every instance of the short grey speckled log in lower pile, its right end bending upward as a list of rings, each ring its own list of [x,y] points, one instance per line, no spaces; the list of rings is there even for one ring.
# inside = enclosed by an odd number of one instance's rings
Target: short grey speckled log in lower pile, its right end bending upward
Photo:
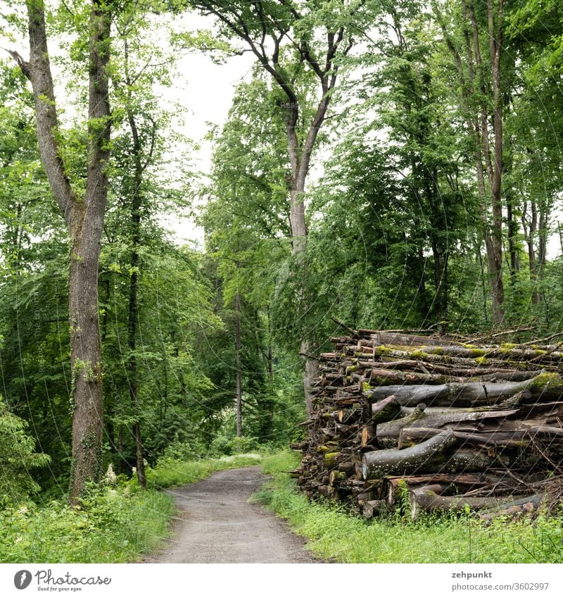
[[[362,477],[364,480],[371,480],[383,478],[384,475],[408,475],[424,471],[426,462],[431,461],[436,454],[443,453],[455,442],[457,440],[453,430],[443,430],[429,440],[403,451],[386,449],[366,453],[362,457]]]

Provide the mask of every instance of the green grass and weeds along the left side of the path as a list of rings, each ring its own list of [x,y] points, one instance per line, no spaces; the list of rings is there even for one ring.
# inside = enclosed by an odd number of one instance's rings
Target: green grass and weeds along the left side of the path
[[[201,461],[166,460],[147,469],[148,490],[137,480],[115,489],[93,485],[80,508],[63,500],[0,509],[0,563],[127,563],[158,549],[168,537],[174,500],[158,488],[190,484],[214,471],[257,465],[236,455]]]

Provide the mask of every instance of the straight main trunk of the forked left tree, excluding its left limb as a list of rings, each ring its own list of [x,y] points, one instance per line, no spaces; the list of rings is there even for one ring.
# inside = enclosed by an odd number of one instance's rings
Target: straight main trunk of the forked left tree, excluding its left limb
[[[70,209],[70,366],[74,392],[70,499],[101,478],[103,401],[98,315],[98,264],[108,195],[110,18],[99,0],[90,16],[87,185]]]

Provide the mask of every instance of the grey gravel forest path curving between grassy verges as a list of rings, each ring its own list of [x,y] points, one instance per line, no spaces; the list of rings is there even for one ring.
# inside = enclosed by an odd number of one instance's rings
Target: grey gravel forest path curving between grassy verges
[[[260,467],[228,469],[168,490],[179,513],[167,547],[148,563],[314,563],[303,540],[251,494],[268,479]]]

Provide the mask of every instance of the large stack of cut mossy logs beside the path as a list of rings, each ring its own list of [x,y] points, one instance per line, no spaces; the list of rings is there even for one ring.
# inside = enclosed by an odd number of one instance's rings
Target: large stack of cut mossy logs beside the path
[[[563,473],[563,352],[376,330],[332,339],[293,477],[366,517],[535,511]]]

